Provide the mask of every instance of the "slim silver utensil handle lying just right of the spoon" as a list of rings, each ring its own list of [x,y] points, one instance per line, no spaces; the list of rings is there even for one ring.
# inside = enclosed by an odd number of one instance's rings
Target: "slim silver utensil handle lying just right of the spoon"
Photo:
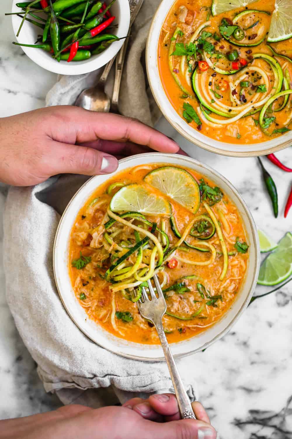
[[[129,0],[130,13],[131,13],[129,34],[130,34],[131,26],[134,23],[134,21],[137,17],[137,14],[141,9],[143,1],[144,0]],[[114,113],[119,113],[120,85],[121,85],[123,65],[124,65],[125,56],[126,56],[126,52],[127,52],[128,41],[129,41],[129,39],[126,38],[126,40],[123,43],[123,46],[121,47],[119,53],[117,54],[117,58],[116,58],[116,75],[115,75],[115,82],[113,84],[113,96],[112,96],[112,106],[111,106],[111,111]]]

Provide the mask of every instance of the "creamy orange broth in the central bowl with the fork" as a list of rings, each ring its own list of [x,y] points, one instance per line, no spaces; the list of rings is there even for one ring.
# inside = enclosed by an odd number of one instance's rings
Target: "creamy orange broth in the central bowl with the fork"
[[[104,223],[109,219],[106,215],[106,207],[111,197],[106,195],[106,190],[110,184],[116,182],[122,182],[123,184],[144,184],[143,177],[150,170],[156,169],[160,166],[164,165],[160,163],[129,168],[118,173],[113,178],[107,180],[106,183],[99,186],[94,194],[92,194],[91,198],[88,199],[84,207],[78,212],[70,235],[70,257],[68,261],[68,269],[75,295],[79,300],[80,305],[88,314],[88,317],[94,320],[96,324],[101,325],[107,331],[118,337],[145,344],[157,344],[159,342],[156,330],[152,324],[148,324],[148,322],[141,317],[136,303],[123,297],[121,291],[117,291],[116,293],[110,292],[109,285],[111,284],[103,279],[106,270],[111,264],[109,259],[107,259],[109,254],[103,247],[92,247],[94,241],[92,240],[91,234],[88,233],[88,229],[95,228],[95,230],[97,230],[96,228],[100,227],[102,222]],[[201,178],[204,178],[205,182],[211,187],[215,186],[210,180],[201,174],[190,169],[187,170],[198,182]],[[161,194],[154,188],[153,191],[156,191],[159,196],[165,197],[164,194]],[[88,207],[92,200],[95,198],[102,200],[102,197],[106,198],[106,205],[95,208],[95,204],[98,205],[97,202]],[[169,199],[169,202],[172,205],[172,214],[176,219],[180,231],[184,230],[186,224],[189,223],[190,220],[195,219],[202,213],[206,214],[206,209],[202,203],[198,212],[194,215],[172,199]],[[164,271],[167,276],[167,282],[163,289],[178,283],[179,280],[180,282],[183,281],[185,286],[190,289],[190,291],[184,292],[183,294],[177,294],[173,291],[172,293],[166,293],[169,295],[166,299],[168,311],[179,315],[188,315],[189,313],[193,315],[200,306],[202,306],[203,299],[197,289],[198,282],[204,285],[208,291],[208,295],[222,295],[222,301],[217,300],[215,306],[206,305],[204,310],[192,320],[178,320],[175,317],[165,315],[163,317],[163,325],[169,342],[179,342],[183,339],[193,337],[199,332],[204,331],[205,328],[214,324],[224,315],[225,312],[228,311],[228,309],[230,309],[243,281],[248,262],[248,252],[245,254],[238,253],[234,248],[237,238],[241,242],[246,241],[243,223],[239,212],[233,202],[225,194],[220,202],[211,206],[211,209],[217,217],[218,210],[220,209],[227,221],[227,228],[230,228],[230,230],[226,231],[226,226],[223,224],[221,226],[227,249],[231,253],[231,255],[229,255],[229,268],[225,278],[223,281],[219,280],[220,273],[222,272],[223,257],[218,235],[215,233],[213,237],[208,239],[208,243],[213,244],[217,251],[214,263],[208,266],[191,266],[179,262],[178,266],[174,269],[166,266]],[[155,218],[153,218],[153,216],[146,217],[151,222],[156,221],[158,226],[160,226],[163,218],[159,216]],[[166,233],[169,236],[170,245],[174,246],[178,241],[178,238],[172,233],[169,219],[167,219]],[[199,240],[196,240],[189,235],[187,241],[192,243]],[[201,240],[200,242],[203,245],[204,241]],[[83,256],[90,256],[91,262],[83,269],[78,270],[71,264],[72,261],[79,258],[80,251]],[[196,261],[205,261],[210,258],[210,252],[203,253],[193,249],[190,249],[189,252],[179,251],[176,254],[185,259]],[[197,276],[196,279],[181,280],[183,276],[194,274]],[[161,272],[158,273],[158,277],[160,282],[162,282],[163,276]],[[84,297],[81,296],[83,294],[86,299],[81,300],[80,297]],[[204,300],[208,301],[208,299]],[[123,320],[114,317],[116,329],[113,327],[111,320],[113,301],[116,311],[130,312],[133,316],[133,320],[130,322],[124,322]]]

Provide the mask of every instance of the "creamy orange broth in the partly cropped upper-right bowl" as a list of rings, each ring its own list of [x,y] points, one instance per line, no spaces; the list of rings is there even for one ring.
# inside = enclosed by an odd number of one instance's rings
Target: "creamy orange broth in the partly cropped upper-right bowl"
[[[221,37],[219,42],[215,41],[215,50],[227,54],[230,50],[238,50],[239,58],[243,58],[247,61],[247,66],[258,66],[262,67],[264,71],[269,75],[269,78],[271,78],[271,86],[270,90],[267,90],[268,92],[272,90],[273,87],[273,74],[271,67],[267,64],[266,61],[262,59],[253,59],[253,54],[262,53],[262,54],[268,54],[274,57],[274,55],[271,52],[271,49],[267,46],[266,40],[264,40],[260,45],[255,47],[240,47],[233,45],[229,43],[229,41],[226,41],[221,35],[218,30],[218,26],[221,24],[222,18],[227,18],[229,20],[232,20],[239,12],[244,11],[245,9],[252,9],[252,10],[259,10],[259,11],[267,11],[272,13],[274,10],[274,0],[260,0],[257,2],[254,2],[250,4],[248,7],[235,9],[232,11],[229,11],[227,13],[219,14],[217,16],[212,16],[210,12],[211,7],[211,0],[177,0],[172,9],[169,11],[169,14],[165,20],[165,23],[162,26],[162,31],[159,38],[159,44],[158,44],[158,69],[160,73],[160,79],[162,81],[162,85],[164,87],[165,93],[167,97],[169,98],[169,101],[171,102],[172,106],[175,108],[176,112],[183,118],[183,103],[188,102],[190,103],[193,108],[197,111],[198,107],[198,101],[196,99],[196,96],[193,92],[193,89],[190,85],[190,83],[187,82],[185,75],[180,75],[179,78],[181,80],[182,86],[189,94],[189,97],[184,97],[184,93],[181,90],[181,88],[177,85],[175,82],[172,72],[169,68],[169,46],[171,44],[171,38],[174,34],[174,31],[177,26],[182,29],[184,35],[179,36],[177,39],[178,43],[187,43],[190,41],[193,33],[195,30],[204,22],[206,22],[207,15],[210,14],[209,20],[211,20],[211,24],[208,25],[206,28],[204,28],[204,31],[211,32]],[[190,20],[190,24],[181,23],[179,22],[179,7],[185,6],[188,11],[191,13],[191,17],[193,16],[193,21]],[[208,9],[207,9],[208,8]],[[243,19],[242,19],[243,20]],[[188,20],[189,21],[189,20]],[[261,26],[264,26],[265,29],[269,29],[271,21],[271,15],[266,14],[260,14],[259,17],[259,24],[257,27],[255,27],[254,32],[257,31],[258,28],[261,28]],[[241,20],[239,20],[238,23],[239,26],[243,24]],[[243,27],[243,26],[242,26]],[[197,39],[196,39],[197,40]],[[214,44],[214,40],[208,39],[208,41],[212,42]],[[292,39],[288,39],[282,42],[278,43],[271,43],[270,44],[273,49],[282,55],[286,55],[288,57],[292,56]],[[248,51],[248,53],[246,53]],[[181,56],[173,56],[173,67],[174,71],[181,72]],[[291,81],[292,81],[292,63],[280,58],[280,57],[274,57],[281,67],[283,69],[287,69],[290,75],[290,84],[289,88],[292,88]],[[217,62],[217,66],[220,68],[226,68],[227,70],[231,69],[231,62],[227,61],[225,59],[219,59]],[[203,72],[199,72],[200,74],[203,74]],[[230,98],[230,88],[227,84],[227,89],[222,90],[222,86],[220,81],[236,81],[236,78],[239,78],[240,76],[240,70],[233,75],[222,75],[216,72],[213,72],[213,70],[209,67],[207,71],[207,82],[206,87],[212,88],[220,94],[221,101],[224,104],[232,105],[232,101]],[[214,73],[214,76],[211,77],[211,74]],[[216,73],[216,74],[215,74]],[[258,84],[263,83],[263,79],[261,79],[261,76],[257,73],[253,73],[253,76],[251,76],[251,73],[248,78],[251,81],[251,83],[254,84],[254,86],[257,86]],[[243,80],[246,80],[243,79]],[[226,84],[225,84],[226,86]],[[224,87],[223,87],[224,88]],[[237,88],[237,97],[239,97],[239,88]],[[253,90],[252,93],[250,93],[250,90],[245,90],[246,93],[246,100],[247,102],[250,102],[252,99],[254,99],[254,96],[257,94]],[[258,99],[258,98],[257,98]],[[279,101],[281,103],[283,98],[279,98]],[[200,117],[202,121],[201,128],[199,128],[200,132],[208,137],[211,137],[212,139],[224,141],[227,143],[233,143],[233,144],[251,144],[251,143],[260,143],[264,142],[266,140],[271,139],[271,134],[274,129],[281,128],[283,126],[288,127],[288,129],[291,129],[291,95],[289,97],[288,106],[281,112],[275,112],[273,116],[276,116],[275,122],[271,126],[271,130],[269,133],[264,133],[260,125],[256,125],[257,122],[254,122],[253,119],[258,120],[259,118],[259,112],[255,113],[254,115],[242,117],[236,122],[232,122],[228,125],[223,125],[222,127],[213,127],[210,126],[204,118]],[[280,104],[280,102],[278,102]],[[200,114],[198,113],[200,116]],[[224,117],[217,115],[215,113],[211,113],[212,116],[215,116],[217,119],[225,119]],[[268,117],[268,115],[266,115]],[[183,119],[185,120],[185,119]],[[288,121],[288,122],[287,122]],[[290,122],[289,122],[290,121]],[[197,130],[198,125],[195,122],[191,122],[190,125]],[[272,134],[272,137],[278,137],[283,134]],[[284,140],[284,139],[283,139]]]

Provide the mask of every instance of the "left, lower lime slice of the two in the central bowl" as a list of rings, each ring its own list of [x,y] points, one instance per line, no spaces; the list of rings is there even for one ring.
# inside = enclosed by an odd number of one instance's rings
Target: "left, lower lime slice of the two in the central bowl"
[[[110,202],[110,209],[113,212],[129,210],[148,215],[171,215],[169,202],[141,184],[128,184],[117,191]]]

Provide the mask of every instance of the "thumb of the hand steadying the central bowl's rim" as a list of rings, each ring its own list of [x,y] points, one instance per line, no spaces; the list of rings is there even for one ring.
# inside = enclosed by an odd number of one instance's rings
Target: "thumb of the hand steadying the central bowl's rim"
[[[54,142],[50,157],[46,159],[50,175],[73,173],[99,175],[114,172],[118,161],[113,155],[86,146]]]

